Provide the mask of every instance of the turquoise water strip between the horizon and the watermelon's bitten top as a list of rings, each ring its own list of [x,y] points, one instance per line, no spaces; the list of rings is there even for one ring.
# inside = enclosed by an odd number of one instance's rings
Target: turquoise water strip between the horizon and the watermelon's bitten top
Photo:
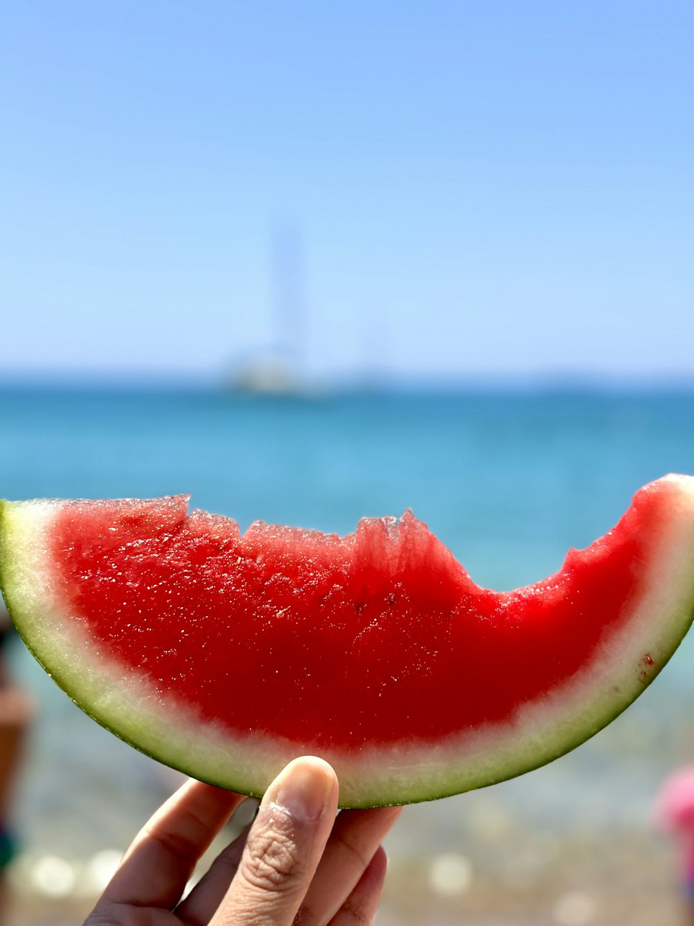
[[[630,495],[694,470],[694,394],[0,393],[0,491],[187,492],[232,515],[347,532],[412,507],[477,581],[514,585],[588,544]]]

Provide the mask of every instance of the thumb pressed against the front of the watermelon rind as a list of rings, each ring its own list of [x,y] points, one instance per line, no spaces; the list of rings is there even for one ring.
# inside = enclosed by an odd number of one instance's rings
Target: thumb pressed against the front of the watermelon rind
[[[327,762],[294,759],[266,791],[242,860],[210,926],[291,926],[335,822],[338,780]]]

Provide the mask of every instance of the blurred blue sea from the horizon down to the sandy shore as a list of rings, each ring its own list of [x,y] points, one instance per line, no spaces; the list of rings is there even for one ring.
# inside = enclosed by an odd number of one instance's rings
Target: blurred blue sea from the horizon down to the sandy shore
[[[0,420],[7,498],[189,493],[192,507],[242,528],[264,519],[341,533],[365,515],[411,508],[496,589],[558,569],[569,547],[608,531],[644,483],[694,473],[694,391],[685,389],[268,396],[4,386]],[[19,640],[11,661],[37,705],[15,807],[26,857],[116,857],[176,773],[84,716]],[[663,776],[694,762],[693,669],[694,635],[634,706],[575,752],[513,782],[407,808],[391,856],[456,852],[493,832],[648,830]]]

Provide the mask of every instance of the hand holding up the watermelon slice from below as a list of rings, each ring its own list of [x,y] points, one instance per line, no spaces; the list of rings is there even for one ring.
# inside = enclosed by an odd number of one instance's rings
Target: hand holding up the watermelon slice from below
[[[294,759],[253,824],[181,900],[198,859],[244,800],[184,784],[130,846],[84,926],[354,926],[370,923],[386,873],[381,841],[401,807],[341,810],[327,762]]]

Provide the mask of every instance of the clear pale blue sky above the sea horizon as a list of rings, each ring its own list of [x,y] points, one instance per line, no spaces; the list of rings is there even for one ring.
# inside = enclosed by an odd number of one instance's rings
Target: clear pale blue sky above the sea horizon
[[[0,376],[215,378],[279,284],[317,374],[692,378],[692,48],[689,0],[6,5]]]

